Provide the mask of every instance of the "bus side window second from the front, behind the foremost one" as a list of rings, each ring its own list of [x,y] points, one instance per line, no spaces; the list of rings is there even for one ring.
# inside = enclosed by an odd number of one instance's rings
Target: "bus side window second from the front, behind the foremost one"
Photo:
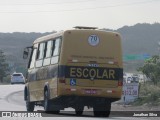
[[[37,52],[36,67],[42,66],[43,57],[44,57],[44,48],[45,48],[45,43],[40,43],[38,47],[38,52]]]

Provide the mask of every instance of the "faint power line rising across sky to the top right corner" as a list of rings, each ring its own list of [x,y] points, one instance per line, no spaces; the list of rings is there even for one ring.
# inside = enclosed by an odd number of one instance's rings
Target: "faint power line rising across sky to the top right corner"
[[[147,0],[141,2],[132,2],[126,4],[117,4],[117,5],[108,5],[108,6],[100,6],[100,7],[90,7],[90,8],[79,8],[79,9],[66,9],[66,10],[50,10],[50,11],[26,11],[26,12],[0,12],[0,13],[53,13],[53,12],[73,12],[73,11],[83,11],[83,10],[93,10],[93,9],[103,9],[103,8],[112,8],[112,7],[121,7],[121,6],[132,6],[139,4],[146,4],[151,2],[159,2],[159,0]]]

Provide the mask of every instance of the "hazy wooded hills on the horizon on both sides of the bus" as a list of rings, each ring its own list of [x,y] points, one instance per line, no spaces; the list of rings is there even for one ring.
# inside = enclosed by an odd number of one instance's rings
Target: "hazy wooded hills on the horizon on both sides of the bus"
[[[107,29],[105,29],[107,30]],[[158,42],[160,42],[160,24],[136,24],[124,26],[117,30],[122,36],[123,55],[149,54],[158,55]],[[4,51],[7,61],[13,70],[24,71],[26,61],[22,59],[23,49],[31,46],[32,42],[46,33],[0,33],[0,49]],[[144,60],[125,61],[125,71],[135,71]]]

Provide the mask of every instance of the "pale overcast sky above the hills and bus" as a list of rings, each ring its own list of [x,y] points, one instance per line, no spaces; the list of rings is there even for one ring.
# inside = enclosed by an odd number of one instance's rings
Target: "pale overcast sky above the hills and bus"
[[[0,32],[160,23],[160,0],[0,0]]]

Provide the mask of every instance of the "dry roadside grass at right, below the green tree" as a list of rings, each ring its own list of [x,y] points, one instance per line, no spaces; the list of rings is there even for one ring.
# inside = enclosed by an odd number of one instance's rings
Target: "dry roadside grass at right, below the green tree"
[[[159,106],[160,105],[160,84],[157,86],[151,82],[141,84],[139,90],[139,97],[132,105],[148,105]]]

